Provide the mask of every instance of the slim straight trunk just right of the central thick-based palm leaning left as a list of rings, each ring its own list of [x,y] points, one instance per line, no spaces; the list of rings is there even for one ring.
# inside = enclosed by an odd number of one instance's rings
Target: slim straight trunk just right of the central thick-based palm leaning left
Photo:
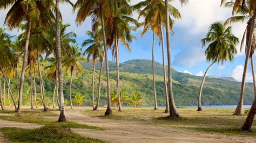
[[[119,85],[119,46],[117,40],[117,28],[116,28],[116,37],[114,38],[115,45],[116,45],[116,63],[117,63],[117,104],[118,104],[118,111],[122,112],[122,104],[120,101],[120,85]]]

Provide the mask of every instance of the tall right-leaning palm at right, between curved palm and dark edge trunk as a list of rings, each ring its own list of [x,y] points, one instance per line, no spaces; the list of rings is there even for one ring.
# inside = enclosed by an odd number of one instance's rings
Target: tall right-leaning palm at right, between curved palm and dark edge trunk
[[[221,4],[224,4],[224,2],[225,1],[222,1]],[[254,27],[253,26],[254,24],[253,24],[253,12],[250,9],[250,4],[251,4],[250,2],[251,1],[247,1],[247,2],[244,1],[244,2],[242,2],[242,4],[238,4],[237,2],[227,2],[227,3],[225,3],[226,7],[233,7],[232,15],[234,15],[234,14],[237,15],[237,16],[232,16],[232,17],[228,18],[226,20],[225,24],[244,22],[245,20],[247,20],[247,26],[246,26],[244,36],[242,37],[242,41],[241,41],[241,49],[242,49],[243,44],[244,44],[244,40],[246,40],[246,44],[245,44],[245,53],[246,53],[245,66],[244,66],[244,73],[242,74],[242,82],[241,82],[239,103],[238,103],[237,108],[235,109],[234,115],[243,115],[244,114],[243,104],[244,104],[245,80],[246,80],[248,61],[249,61],[250,58],[251,58],[251,65],[253,67],[252,55],[254,53],[254,46],[253,46],[253,44],[251,44],[250,35],[253,35],[253,33],[254,33],[253,31],[251,31],[251,27]],[[245,37],[246,37],[246,39],[245,39]],[[249,47],[249,45],[251,45],[251,46]]]

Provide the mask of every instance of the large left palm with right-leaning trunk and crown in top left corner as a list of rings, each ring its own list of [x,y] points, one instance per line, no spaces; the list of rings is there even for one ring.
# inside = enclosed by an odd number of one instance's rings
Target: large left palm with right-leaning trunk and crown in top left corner
[[[47,21],[49,19],[46,15],[50,11],[48,6],[45,6],[42,1],[31,0],[24,4],[23,1],[5,1],[0,3],[0,9],[7,9],[11,6],[9,12],[5,18],[5,24],[12,30],[13,28],[18,27],[22,22],[26,22],[26,41],[24,48],[24,57],[23,57],[23,67],[21,73],[21,82],[19,88],[19,101],[18,101],[18,110],[17,116],[21,114],[21,104],[22,104],[22,92],[23,92],[23,82],[25,76],[25,68],[28,60],[28,48],[30,40],[31,28],[37,23],[48,25]]]

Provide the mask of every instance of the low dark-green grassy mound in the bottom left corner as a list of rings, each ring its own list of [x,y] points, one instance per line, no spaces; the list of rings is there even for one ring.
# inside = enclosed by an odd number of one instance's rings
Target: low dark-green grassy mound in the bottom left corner
[[[105,142],[82,137],[60,125],[45,125],[36,129],[5,127],[0,130],[4,138],[13,142]]]

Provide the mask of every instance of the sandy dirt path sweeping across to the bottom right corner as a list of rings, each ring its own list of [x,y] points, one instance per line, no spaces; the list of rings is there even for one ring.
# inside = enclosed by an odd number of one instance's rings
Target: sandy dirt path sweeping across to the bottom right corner
[[[58,113],[56,111],[56,113]],[[109,130],[73,129],[78,134],[112,142],[256,142],[252,137],[233,137],[168,127],[141,125],[135,121],[100,119],[83,115],[79,110],[66,111],[66,118],[79,124]]]

